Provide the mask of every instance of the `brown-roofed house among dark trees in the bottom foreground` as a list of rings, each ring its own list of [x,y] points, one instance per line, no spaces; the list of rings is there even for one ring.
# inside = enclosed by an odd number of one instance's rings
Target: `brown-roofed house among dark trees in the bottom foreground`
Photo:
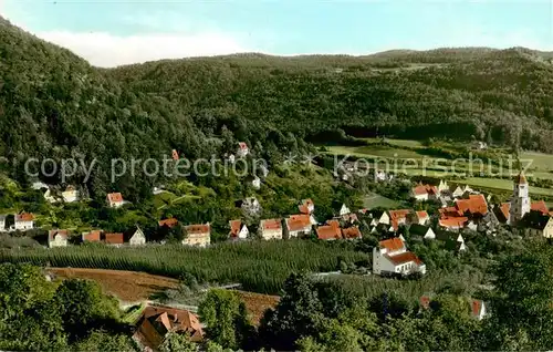
[[[148,306],[138,319],[133,340],[144,351],[158,351],[167,333],[189,337],[191,342],[201,342],[204,331],[198,317],[187,310],[163,306]]]

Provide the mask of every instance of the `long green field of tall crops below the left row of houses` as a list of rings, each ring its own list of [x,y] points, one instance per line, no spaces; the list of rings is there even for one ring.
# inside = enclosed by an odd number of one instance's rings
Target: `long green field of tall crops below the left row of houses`
[[[367,253],[340,242],[309,240],[223,242],[209,248],[149,245],[0,250],[0,262],[143,271],[176,279],[188,273],[199,283],[241,283],[244,290],[260,293],[279,293],[292,272],[335,270],[341,257],[353,262],[368,259]]]

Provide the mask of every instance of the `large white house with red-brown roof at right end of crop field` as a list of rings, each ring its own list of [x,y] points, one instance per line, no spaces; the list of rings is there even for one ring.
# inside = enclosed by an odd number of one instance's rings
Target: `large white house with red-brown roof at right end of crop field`
[[[373,248],[373,272],[375,275],[426,273],[426,266],[407,250],[405,242],[395,237],[378,242]]]

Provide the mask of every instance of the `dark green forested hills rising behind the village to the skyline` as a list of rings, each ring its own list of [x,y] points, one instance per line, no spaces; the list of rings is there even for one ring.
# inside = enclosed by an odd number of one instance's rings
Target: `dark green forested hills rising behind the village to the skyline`
[[[0,153],[28,157],[195,158],[247,142],[268,159],[304,141],[380,134],[492,138],[553,151],[552,54],[522,48],[388,51],[367,56],[236,54],[96,69],[0,22]],[[15,166],[12,166],[15,165]],[[22,164],[9,172],[24,182]],[[156,179],[108,170],[92,195]],[[75,178],[82,178],[82,173]],[[55,176],[54,176],[55,178]]]

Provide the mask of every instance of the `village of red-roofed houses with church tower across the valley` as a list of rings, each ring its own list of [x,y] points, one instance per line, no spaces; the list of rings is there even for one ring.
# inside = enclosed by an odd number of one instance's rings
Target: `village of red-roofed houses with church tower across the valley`
[[[246,143],[239,143],[237,157],[246,157],[249,149]],[[173,151],[174,159],[179,155]],[[234,162],[234,156],[228,156]],[[267,176],[267,174],[265,174]],[[375,172],[377,182],[386,182],[393,176],[386,176],[382,170]],[[407,179],[406,182],[409,183]],[[259,177],[253,179],[254,188],[261,187]],[[66,186],[63,191],[54,194],[52,188],[36,183],[35,189],[45,189],[43,196],[49,203],[75,203],[80,200],[80,193],[74,186]],[[154,194],[159,193],[158,188]],[[342,204],[335,209],[333,218],[316,219],[315,204],[312,199],[302,199],[298,204],[298,214],[283,218],[259,219],[257,231],[251,231],[243,219],[228,220],[228,240],[244,241],[286,240],[293,238],[315,238],[322,241],[356,240],[368,234],[378,238],[378,246],[373,248],[372,272],[378,276],[410,276],[425,275],[425,263],[408,250],[405,236],[417,237],[421,240],[442,241],[447,249],[455,252],[466,250],[462,236],[463,230],[471,230],[493,236],[499,226],[509,226],[523,229],[529,236],[544,238],[553,237],[553,211],[550,211],[543,200],[532,201],[529,195],[529,184],[521,172],[513,182],[512,197],[508,203],[490,204],[491,196],[486,196],[469,186],[448,185],[441,179],[437,185],[417,183],[410,190],[410,198],[415,204],[435,203],[439,205],[436,214],[415,209],[368,209],[352,210],[348,205]],[[121,193],[106,195],[105,204],[109,208],[122,208],[127,201]],[[258,217],[261,205],[255,197],[238,200],[236,206],[243,216]],[[35,216],[30,213],[13,215],[13,224],[7,227],[8,215],[0,216],[0,228],[4,231],[28,231],[35,228]],[[174,217],[159,219],[158,232],[179,232],[181,245],[205,248],[211,245],[211,225],[186,224]],[[108,232],[102,229],[83,231],[80,240],[67,229],[50,229],[48,231],[48,247],[67,247],[71,244],[104,244],[113,247],[145,246],[150,240],[137,225],[124,232]],[[160,241],[160,245],[165,240]]]

